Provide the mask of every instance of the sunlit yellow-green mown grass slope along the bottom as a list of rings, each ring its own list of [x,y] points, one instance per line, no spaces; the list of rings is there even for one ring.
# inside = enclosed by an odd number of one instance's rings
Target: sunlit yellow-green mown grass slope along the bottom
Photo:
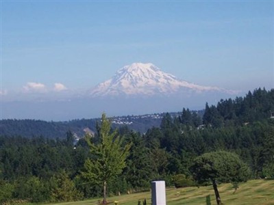
[[[274,180],[250,180],[246,183],[240,183],[239,189],[234,193],[232,184],[219,185],[221,200],[225,205],[235,204],[274,204]],[[206,196],[210,195],[211,204],[216,204],[213,187],[187,187],[181,189],[166,189],[166,204],[168,205],[205,205]],[[109,197],[110,202],[118,201],[119,204],[137,205],[138,200],[147,199],[147,204],[151,202],[151,193],[133,193],[129,195],[121,195]],[[86,200],[82,202],[66,202],[60,205],[90,205],[98,204],[99,199]],[[49,204],[47,204],[49,205]]]

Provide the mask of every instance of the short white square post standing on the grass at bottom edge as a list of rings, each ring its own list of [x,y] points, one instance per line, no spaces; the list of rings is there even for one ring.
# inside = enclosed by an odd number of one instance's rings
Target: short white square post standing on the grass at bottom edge
[[[164,181],[151,182],[152,205],[166,205],[166,183]]]

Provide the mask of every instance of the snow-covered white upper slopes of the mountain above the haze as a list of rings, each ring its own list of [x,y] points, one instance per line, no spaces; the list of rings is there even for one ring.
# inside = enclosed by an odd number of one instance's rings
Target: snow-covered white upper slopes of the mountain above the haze
[[[91,92],[92,96],[153,96],[173,94],[180,90],[188,92],[229,92],[219,87],[201,86],[177,79],[162,72],[153,64],[134,63],[124,66],[112,79],[99,83]]]

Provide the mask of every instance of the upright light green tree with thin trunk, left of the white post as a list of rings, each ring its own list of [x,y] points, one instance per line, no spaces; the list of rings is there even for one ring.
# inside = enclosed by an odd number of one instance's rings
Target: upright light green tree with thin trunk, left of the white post
[[[87,137],[92,159],[86,161],[85,170],[81,174],[88,182],[103,186],[103,204],[107,204],[107,183],[123,171],[130,148],[129,144],[123,146],[118,132],[111,133],[110,129],[111,122],[103,113],[101,125],[98,127],[98,143],[92,143],[90,137]]]

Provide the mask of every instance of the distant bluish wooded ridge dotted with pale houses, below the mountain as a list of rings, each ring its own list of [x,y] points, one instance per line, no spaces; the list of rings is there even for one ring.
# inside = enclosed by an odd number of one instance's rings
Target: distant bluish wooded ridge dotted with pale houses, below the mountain
[[[180,113],[170,113],[176,117]],[[199,111],[202,115],[203,111]],[[119,128],[127,126],[130,130],[145,133],[149,128],[159,127],[164,113],[153,113],[147,115],[127,115],[112,117],[112,127]],[[39,137],[60,139],[66,138],[66,133],[71,131],[78,137],[85,135],[88,131],[96,132],[96,122],[98,118],[77,119],[66,122],[46,122],[42,120],[0,120],[0,135]]]

